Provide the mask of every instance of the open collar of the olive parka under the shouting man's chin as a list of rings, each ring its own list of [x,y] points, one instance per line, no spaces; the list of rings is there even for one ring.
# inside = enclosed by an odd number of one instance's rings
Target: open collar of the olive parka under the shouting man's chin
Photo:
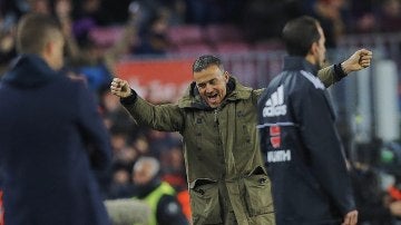
[[[235,101],[241,99],[248,99],[251,97],[252,88],[245,87],[235,77],[229,77],[227,82],[227,95],[222,102],[221,107],[224,107],[228,101]],[[204,100],[196,88],[195,81],[193,81],[183,98],[178,100],[179,108],[197,108],[204,110],[213,110]]]

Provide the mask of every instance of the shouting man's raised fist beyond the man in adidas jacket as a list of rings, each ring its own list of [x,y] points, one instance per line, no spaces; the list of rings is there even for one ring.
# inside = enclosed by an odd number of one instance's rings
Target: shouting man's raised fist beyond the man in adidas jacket
[[[341,63],[345,74],[358,71],[370,66],[372,60],[372,51],[360,49],[355,51],[349,59]]]

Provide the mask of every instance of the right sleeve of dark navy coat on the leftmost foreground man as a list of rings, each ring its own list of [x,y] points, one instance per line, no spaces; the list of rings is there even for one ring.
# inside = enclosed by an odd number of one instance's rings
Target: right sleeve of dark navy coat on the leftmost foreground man
[[[77,81],[78,82],[78,81]],[[107,128],[101,119],[94,94],[78,82],[78,127],[88,145],[91,166],[107,170],[111,164],[111,145]]]

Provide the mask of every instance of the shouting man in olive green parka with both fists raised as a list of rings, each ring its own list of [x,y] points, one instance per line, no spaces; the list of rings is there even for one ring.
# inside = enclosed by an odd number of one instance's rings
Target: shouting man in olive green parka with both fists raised
[[[330,86],[362,69],[361,57],[356,51],[322,69],[321,79]],[[271,184],[255,129],[263,90],[241,85],[214,56],[196,59],[193,77],[178,104],[151,105],[119,78],[114,78],[110,90],[138,124],[183,135],[194,225],[274,224]]]

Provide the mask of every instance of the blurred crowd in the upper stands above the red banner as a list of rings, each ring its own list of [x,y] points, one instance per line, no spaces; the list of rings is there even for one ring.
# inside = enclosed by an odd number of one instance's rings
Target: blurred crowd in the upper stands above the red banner
[[[99,55],[118,41],[121,55],[224,52],[273,48],[283,25],[317,18],[329,48],[348,33],[400,30],[399,0],[2,0],[0,62],[12,57],[14,25],[28,11],[59,18],[76,47]],[[124,36],[126,35],[126,36]],[[124,38],[125,37],[125,38]],[[280,47],[280,45],[277,46]],[[70,49],[77,50],[77,49]],[[100,51],[100,52],[99,52]],[[70,52],[75,58],[76,51]],[[91,55],[89,53],[89,55]],[[115,51],[116,53],[116,51]]]

